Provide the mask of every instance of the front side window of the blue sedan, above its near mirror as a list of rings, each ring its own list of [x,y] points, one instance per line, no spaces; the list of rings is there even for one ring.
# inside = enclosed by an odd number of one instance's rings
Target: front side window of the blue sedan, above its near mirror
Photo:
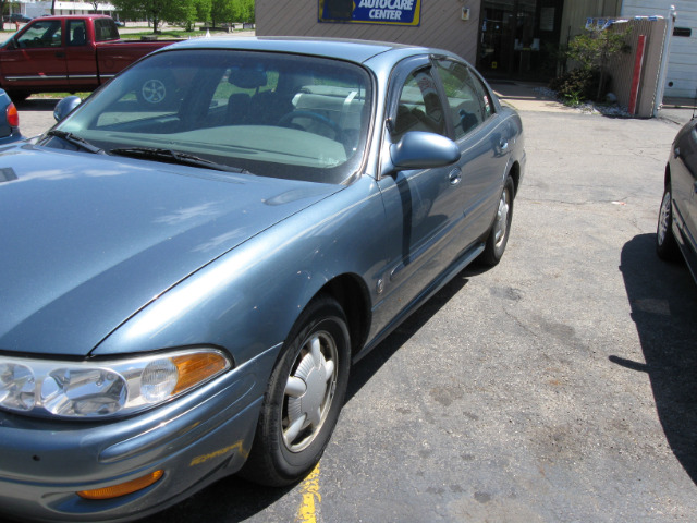
[[[443,106],[436,81],[428,69],[414,71],[402,87],[391,132],[392,142],[396,143],[409,131],[445,135]]]

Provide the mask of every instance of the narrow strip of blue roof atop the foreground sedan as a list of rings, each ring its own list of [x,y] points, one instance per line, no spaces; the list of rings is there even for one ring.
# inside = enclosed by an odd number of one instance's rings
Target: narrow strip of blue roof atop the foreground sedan
[[[444,52],[418,46],[406,46],[387,41],[369,41],[341,38],[297,38],[297,37],[242,37],[242,38],[195,38],[162,48],[174,49],[236,49],[249,51],[290,52],[322,58],[339,58],[357,63],[382,53],[396,51],[400,56]]]

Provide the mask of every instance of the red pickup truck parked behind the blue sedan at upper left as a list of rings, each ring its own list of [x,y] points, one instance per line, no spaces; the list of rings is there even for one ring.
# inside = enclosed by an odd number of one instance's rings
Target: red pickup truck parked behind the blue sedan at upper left
[[[34,19],[0,47],[0,87],[23,100],[33,93],[94,90],[140,57],[176,40],[123,41],[110,16]],[[157,78],[140,96],[156,101]]]

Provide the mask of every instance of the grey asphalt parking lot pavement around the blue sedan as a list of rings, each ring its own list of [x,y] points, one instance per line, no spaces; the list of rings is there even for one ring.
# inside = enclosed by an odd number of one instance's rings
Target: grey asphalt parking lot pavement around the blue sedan
[[[462,272],[353,369],[319,467],[221,481],[148,522],[697,520],[697,285],[655,254],[672,119],[521,109],[501,264]],[[54,100],[19,105],[27,136]]]

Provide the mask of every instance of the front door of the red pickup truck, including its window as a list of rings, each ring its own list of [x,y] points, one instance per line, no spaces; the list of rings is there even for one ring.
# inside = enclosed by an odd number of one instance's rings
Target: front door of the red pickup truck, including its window
[[[5,89],[61,86],[68,81],[62,20],[37,19],[0,53]],[[16,87],[15,87],[16,86]]]

